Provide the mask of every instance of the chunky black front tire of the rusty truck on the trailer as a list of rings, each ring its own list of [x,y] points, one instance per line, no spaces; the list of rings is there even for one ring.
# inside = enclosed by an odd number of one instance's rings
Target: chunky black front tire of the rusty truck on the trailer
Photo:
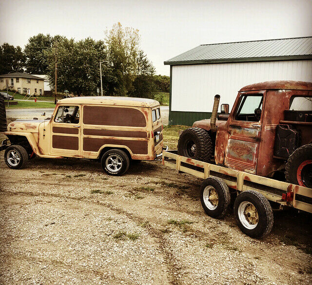
[[[209,161],[213,144],[207,131],[189,128],[183,131],[177,143],[177,153],[201,161]]]

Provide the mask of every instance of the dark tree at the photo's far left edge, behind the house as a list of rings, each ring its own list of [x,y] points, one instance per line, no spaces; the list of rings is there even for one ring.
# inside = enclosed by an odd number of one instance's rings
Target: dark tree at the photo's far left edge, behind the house
[[[16,48],[8,43],[0,46],[0,74],[23,72],[25,57],[19,46]]]

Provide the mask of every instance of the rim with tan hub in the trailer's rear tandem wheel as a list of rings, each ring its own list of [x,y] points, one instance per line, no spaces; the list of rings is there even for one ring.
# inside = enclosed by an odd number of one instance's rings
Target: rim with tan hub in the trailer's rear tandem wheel
[[[254,229],[259,222],[259,215],[253,203],[241,202],[238,206],[238,218],[245,228]]]

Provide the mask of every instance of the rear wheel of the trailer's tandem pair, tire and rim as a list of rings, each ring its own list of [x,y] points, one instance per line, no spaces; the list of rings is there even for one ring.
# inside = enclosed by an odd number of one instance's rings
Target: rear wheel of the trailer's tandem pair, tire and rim
[[[262,194],[247,190],[234,202],[234,214],[240,230],[252,238],[269,234],[273,227],[273,210]]]

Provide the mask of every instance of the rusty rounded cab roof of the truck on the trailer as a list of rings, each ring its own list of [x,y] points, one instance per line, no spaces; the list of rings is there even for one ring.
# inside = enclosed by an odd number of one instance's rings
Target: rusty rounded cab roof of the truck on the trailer
[[[247,85],[241,88],[239,92],[266,89],[312,90],[312,82],[291,80],[265,81]]]

